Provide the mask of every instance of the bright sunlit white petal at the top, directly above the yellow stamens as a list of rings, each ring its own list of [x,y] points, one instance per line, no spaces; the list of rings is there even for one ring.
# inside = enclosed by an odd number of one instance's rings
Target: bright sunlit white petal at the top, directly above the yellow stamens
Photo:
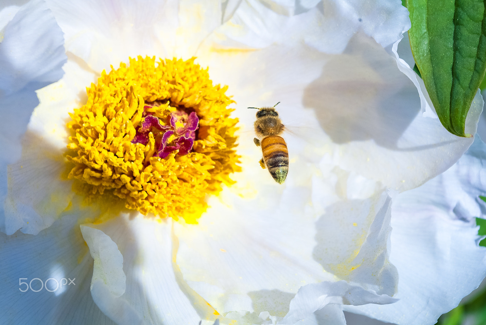
[[[97,72],[137,55],[191,58],[239,2],[48,0],[66,35],[66,50]],[[224,16],[224,17],[223,17]]]

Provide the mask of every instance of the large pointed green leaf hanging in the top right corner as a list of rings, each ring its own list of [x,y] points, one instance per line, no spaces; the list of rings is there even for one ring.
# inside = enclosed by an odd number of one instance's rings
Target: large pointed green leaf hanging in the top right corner
[[[407,0],[415,62],[442,125],[465,134],[486,71],[486,0]]]

